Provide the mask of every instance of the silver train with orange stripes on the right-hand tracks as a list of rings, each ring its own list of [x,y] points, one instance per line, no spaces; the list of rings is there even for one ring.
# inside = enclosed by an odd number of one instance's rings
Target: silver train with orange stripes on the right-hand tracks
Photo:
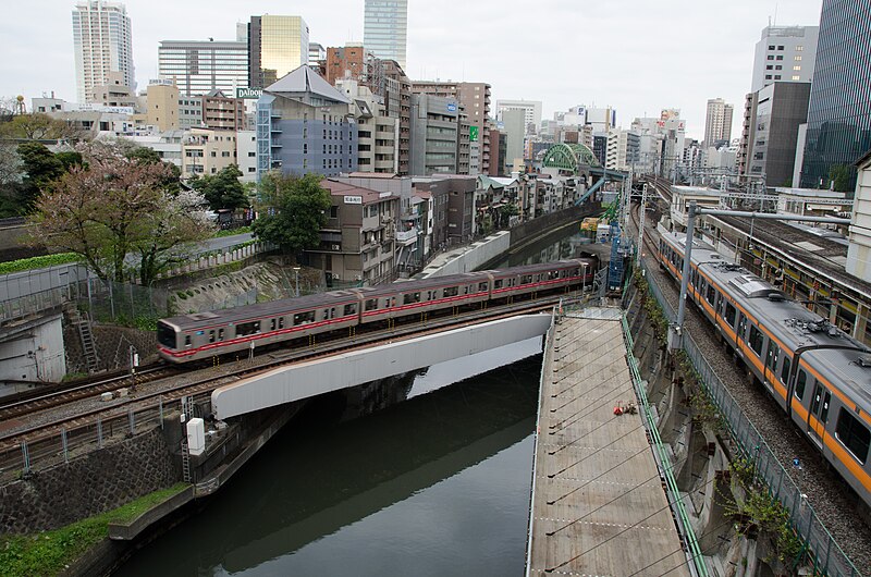
[[[685,250],[686,235],[662,234],[678,281]],[[871,351],[698,240],[690,271],[688,298],[871,506]]]

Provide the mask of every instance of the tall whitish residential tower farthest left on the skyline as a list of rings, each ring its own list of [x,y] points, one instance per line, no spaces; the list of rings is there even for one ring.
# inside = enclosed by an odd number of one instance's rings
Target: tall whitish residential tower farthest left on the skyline
[[[94,101],[94,87],[109,84],[110,72],[120,72],[126,86],[136,87],[133,35],[123,3],[79,0],[73,9],[73,50],[79,102]]]

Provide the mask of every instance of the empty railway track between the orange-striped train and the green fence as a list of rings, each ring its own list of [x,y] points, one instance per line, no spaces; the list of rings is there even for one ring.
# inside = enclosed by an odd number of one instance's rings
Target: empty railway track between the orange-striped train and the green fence
[[[638,216],[635,210],[630,212],[637,231]],[[643,236],[650,250],[657,248],[658,240],[651,229],[647,229]],[[679,287],[660,270],[653,254],[648,253],[646,258],[648,275],[676,309]],[[684,327],[706,351],[711,367],[763,435],[777,461],[783,465],[798,459],[800,466],[792,467],[789,475],[844,553],[857,567],[871,567],[871,527],[868,524],[868,511],[863,504],[859,504],[859,498],[795,427],[768,391],[748,379],[746,370],[736,368],[731,352],[720,344],[708,321],[694,305],[686,307]]]

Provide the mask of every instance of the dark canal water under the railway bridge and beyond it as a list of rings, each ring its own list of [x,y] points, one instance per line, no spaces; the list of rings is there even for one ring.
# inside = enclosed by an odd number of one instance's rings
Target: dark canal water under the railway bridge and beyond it
[[[551,240],[511,266],[576,244]],[[116,575],[520,575],[540,352],[532,339],[436,365],[407,401],[353,420],[310,405]]]

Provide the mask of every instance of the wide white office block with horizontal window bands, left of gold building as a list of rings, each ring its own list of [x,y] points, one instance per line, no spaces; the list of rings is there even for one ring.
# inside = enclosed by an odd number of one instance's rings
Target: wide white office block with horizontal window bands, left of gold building
[[[248,45],[240,41],[162,40],[157,49],[158,74],[175,79],[184,96],[221,90],[235,96],[248,87]]]

